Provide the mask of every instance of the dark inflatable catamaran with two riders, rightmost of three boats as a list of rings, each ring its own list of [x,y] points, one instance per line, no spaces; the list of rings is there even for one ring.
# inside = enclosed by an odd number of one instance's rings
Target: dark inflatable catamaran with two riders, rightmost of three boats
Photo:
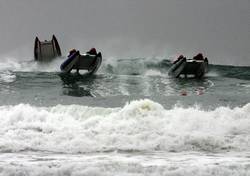
[[[193,75],[196,78],[201,78],[208,72],[208,60],[205,59],[186,59],[180,57],[176,60],[168,71],[168,75],[178,78],[181,75],[187,77]]]

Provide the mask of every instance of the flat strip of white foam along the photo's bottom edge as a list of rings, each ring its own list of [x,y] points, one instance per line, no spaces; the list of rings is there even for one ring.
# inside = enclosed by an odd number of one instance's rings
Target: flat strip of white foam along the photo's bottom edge
[[[0,176],[247,176],[247,157],[187,153],[2,154]]]

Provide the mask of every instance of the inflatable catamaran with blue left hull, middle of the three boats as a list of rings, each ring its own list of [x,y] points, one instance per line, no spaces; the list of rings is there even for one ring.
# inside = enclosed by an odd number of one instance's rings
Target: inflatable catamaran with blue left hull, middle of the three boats
[[[99,69],[101,63],[101,52],[94,55],[89,53],[81,55],[79,51],[75,51],[61,64],[60,69],[66,73],[70,73],[71,70],[75,69],[77,72],[86,70],[87,73],[94,74]]]

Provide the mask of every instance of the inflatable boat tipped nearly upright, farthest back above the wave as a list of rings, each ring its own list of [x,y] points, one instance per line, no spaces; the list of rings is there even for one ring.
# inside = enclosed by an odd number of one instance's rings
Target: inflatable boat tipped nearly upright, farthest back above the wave
[[[37,61],[51,61],[61,56],[61,49],[55,35],[50,41],[40,41],[38,37],[35,39],[34,58]]]

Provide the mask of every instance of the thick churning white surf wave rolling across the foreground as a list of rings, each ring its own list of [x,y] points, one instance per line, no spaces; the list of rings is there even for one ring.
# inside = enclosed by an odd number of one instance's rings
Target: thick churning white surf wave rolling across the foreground
[[[0,107],[0,151],[245,151],[250,104],[213,111],[164,109],[151,100],[122,108],[80,105]]]

